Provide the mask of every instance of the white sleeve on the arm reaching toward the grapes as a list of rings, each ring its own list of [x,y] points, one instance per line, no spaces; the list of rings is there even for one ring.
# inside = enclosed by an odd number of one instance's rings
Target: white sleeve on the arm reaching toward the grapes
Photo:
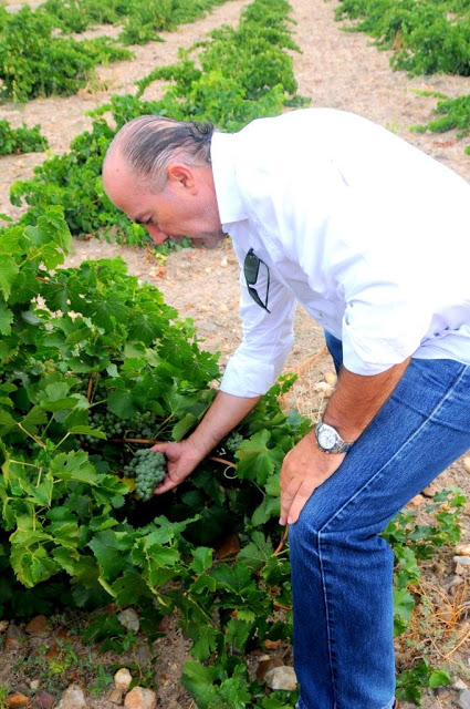
[[[264,394],[281,374],[294,341],[295,298],[270,274],[268,308],[250,296],[243,275],[246,254],[233,244],[241,266],[240,311],[242,342],[229,359],[220,390],[234,397]]]

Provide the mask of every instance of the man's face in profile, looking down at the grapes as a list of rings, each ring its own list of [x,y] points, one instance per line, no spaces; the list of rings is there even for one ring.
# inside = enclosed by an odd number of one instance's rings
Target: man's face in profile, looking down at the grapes
[[[155,244],[189,237],[195,246],[215,248],[222,232],[210,167],[169,168],[161,192],[137,185],[118,154],[106,163],[103,182],[112,202],[133,220],[145,226]]]

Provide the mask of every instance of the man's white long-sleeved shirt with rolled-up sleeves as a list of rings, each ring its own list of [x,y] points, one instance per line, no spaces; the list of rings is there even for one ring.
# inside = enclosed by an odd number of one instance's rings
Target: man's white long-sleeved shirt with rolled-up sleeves
[[[223,230],[241,266],[243,338],[221,390],[264,393],[293,342],[295,304],[376,374],[408,356],[470,364],[470,185],[369,121],[331,109],[215,133]],[[249,295],[249,249],[269,268]],[[260,280],[253,286],[265,291]]]

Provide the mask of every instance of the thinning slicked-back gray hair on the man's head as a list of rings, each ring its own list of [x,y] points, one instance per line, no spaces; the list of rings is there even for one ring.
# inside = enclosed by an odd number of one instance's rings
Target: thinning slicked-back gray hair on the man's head
[[[184,158],[192,166],[210,165],[212,133],[212,123],[140,115],[126,123],[114,136],[104,165],[118,150],[143,186],[158,192],[164,187],[166,168],[171,160]]]

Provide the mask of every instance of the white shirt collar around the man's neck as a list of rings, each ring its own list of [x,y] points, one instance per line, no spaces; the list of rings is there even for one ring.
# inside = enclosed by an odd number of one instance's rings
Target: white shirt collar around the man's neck
[[[220,222],[233,224],[247,218],[236,175],[237,134],[213,133],[210,148]]]

